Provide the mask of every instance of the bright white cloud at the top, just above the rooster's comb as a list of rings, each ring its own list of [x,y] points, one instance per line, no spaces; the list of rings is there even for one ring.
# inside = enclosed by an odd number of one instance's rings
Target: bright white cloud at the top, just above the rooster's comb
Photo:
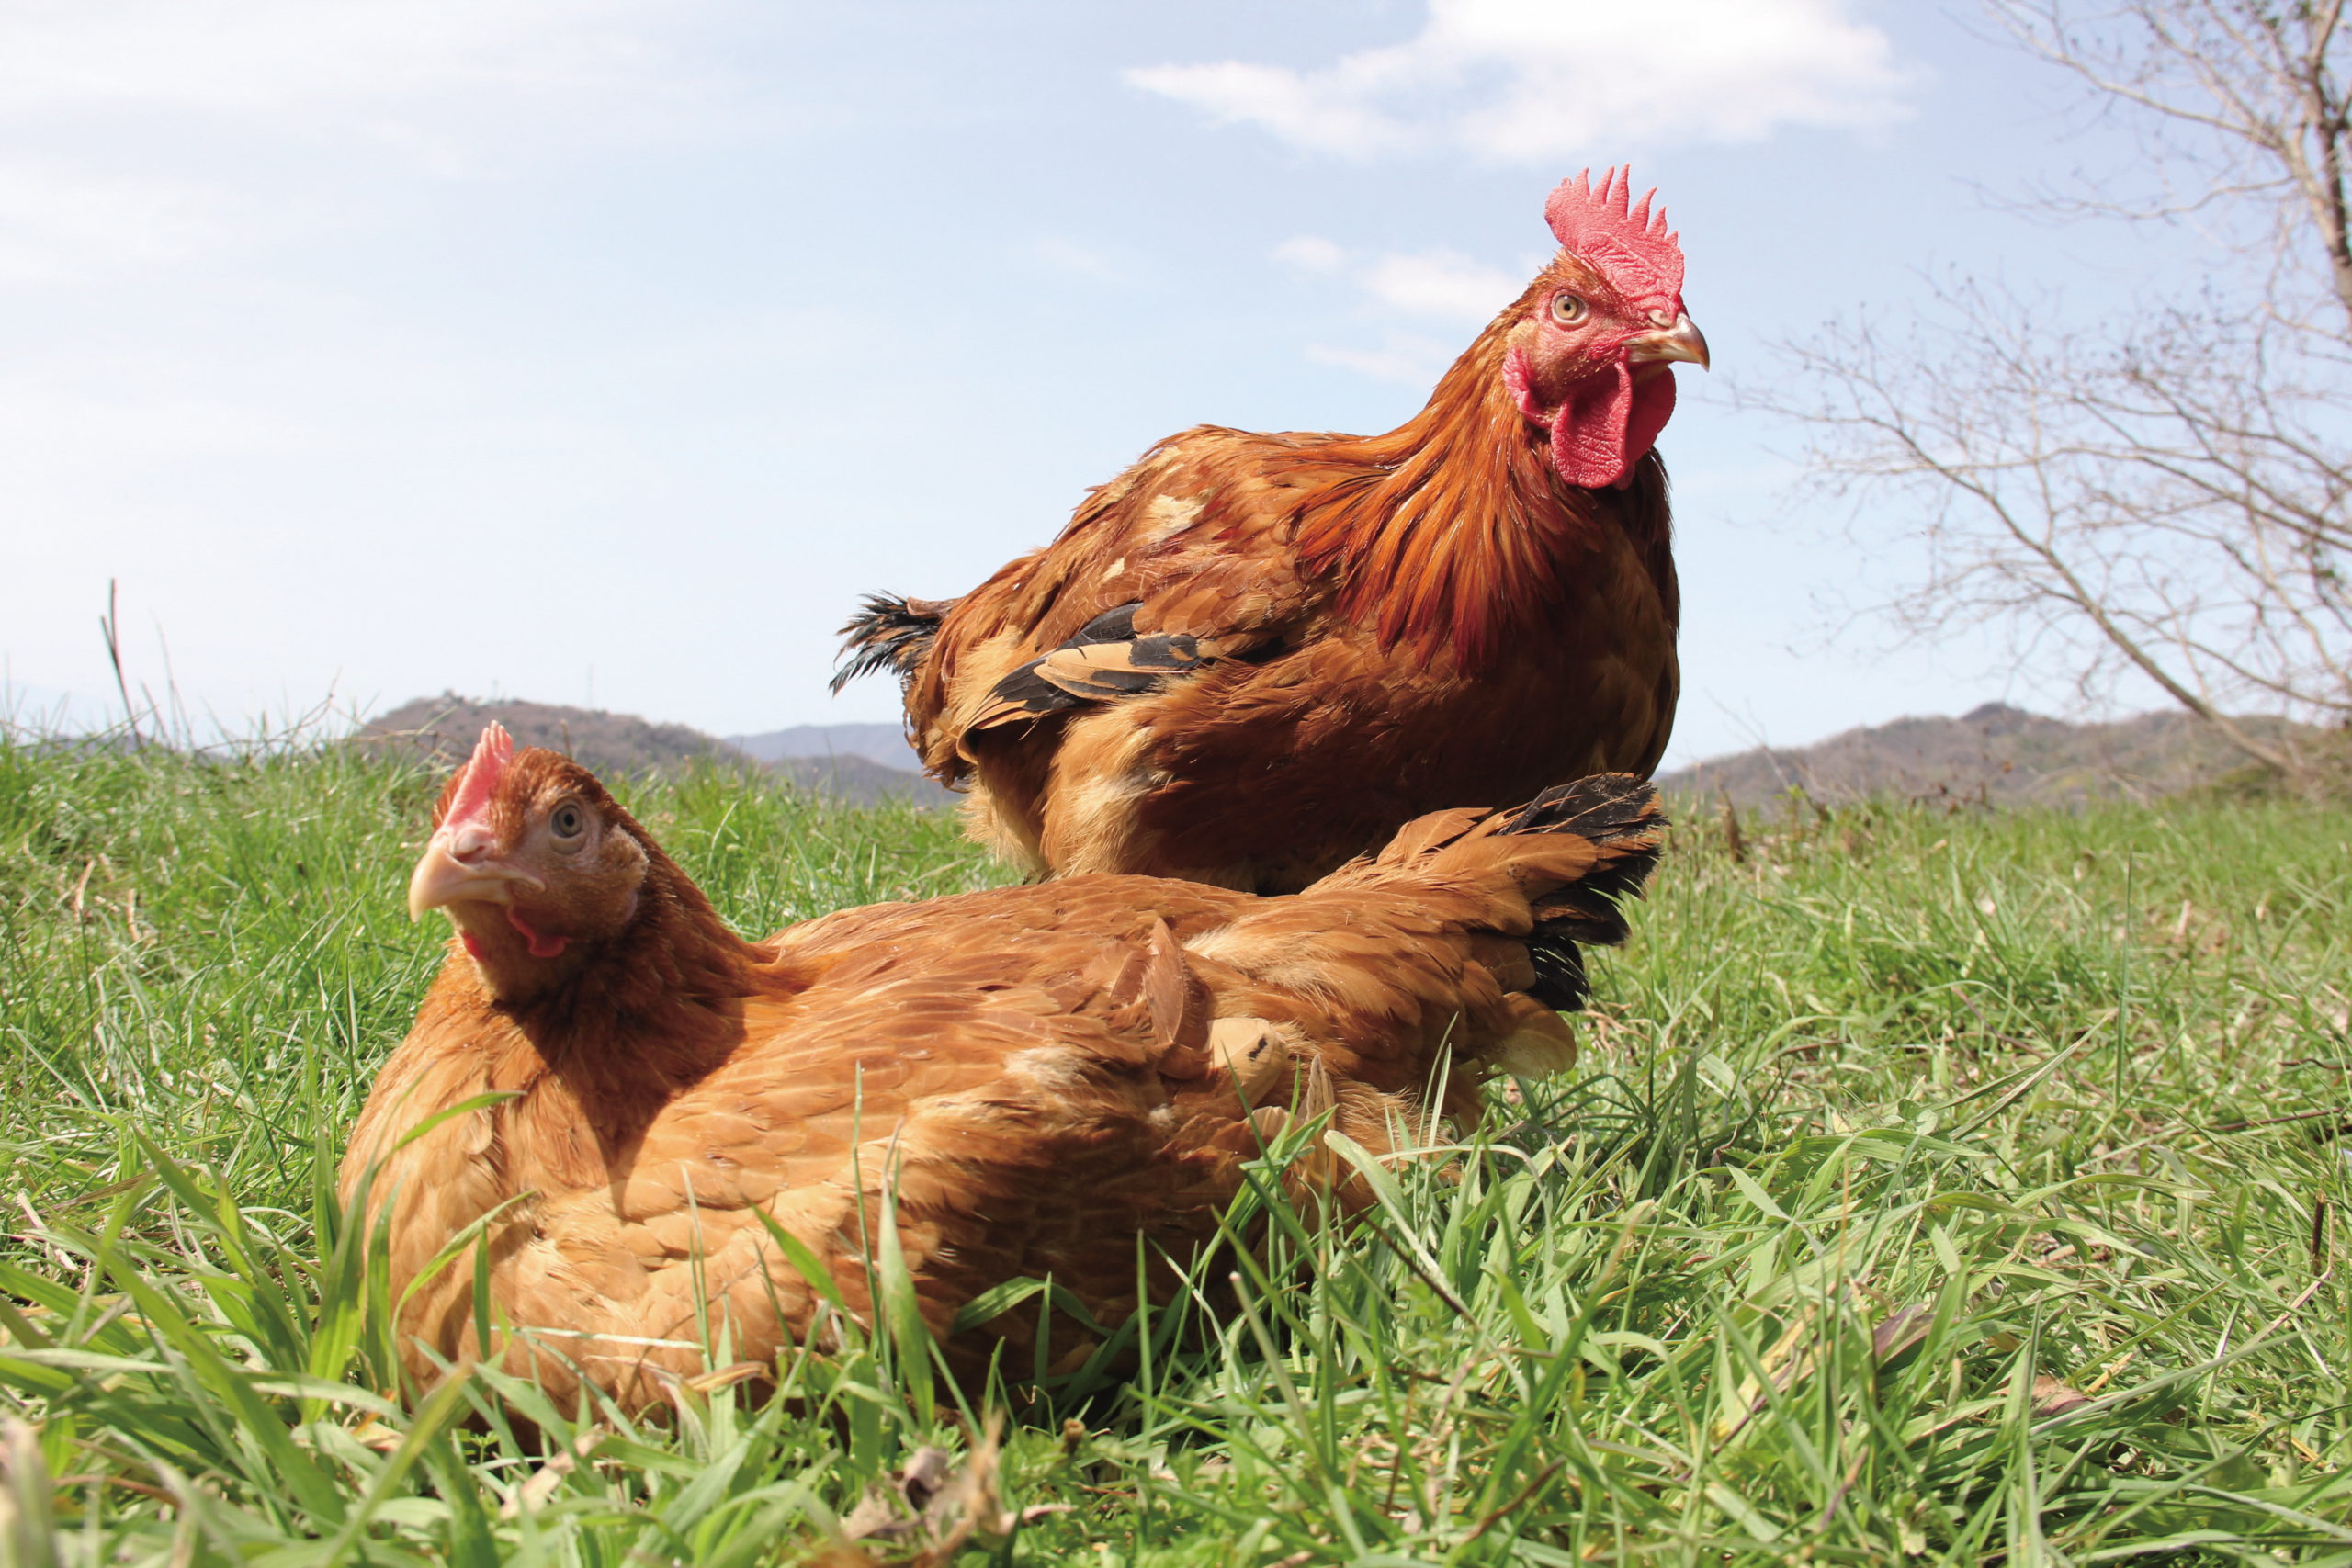
[[[1430,0],[1418,38],[1319,71],[1223,61],[1127,80],[1317,153],[1621,158],[1903,113],[1893,45],[1849,0]]]

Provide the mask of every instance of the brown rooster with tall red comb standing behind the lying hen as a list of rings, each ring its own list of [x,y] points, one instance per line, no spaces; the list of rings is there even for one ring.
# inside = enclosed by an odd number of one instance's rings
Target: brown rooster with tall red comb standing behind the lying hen
[[[1653,193],[1656,195],[1656,193]],[[1035,872],[1296,891],[1399,823],[1649,773],[1675,724],[1682,249],[1625,176],[1388,435],[1174,435],[962,599],[875,595],[924,766]]]

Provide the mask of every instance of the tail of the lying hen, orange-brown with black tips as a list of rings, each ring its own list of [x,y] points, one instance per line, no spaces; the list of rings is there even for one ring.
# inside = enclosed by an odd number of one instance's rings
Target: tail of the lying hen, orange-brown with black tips
[[[1658,788],[1632,773],[1592,773],[1510,811],[1439,811],[1406,823],[1376,865],[1479,884],[1508,877],[1534,931],[1526,994],[1562,1013],[1585,1004],[1585,947],[1625,940],[1618,900],[1639,896],[1665,846]]]

